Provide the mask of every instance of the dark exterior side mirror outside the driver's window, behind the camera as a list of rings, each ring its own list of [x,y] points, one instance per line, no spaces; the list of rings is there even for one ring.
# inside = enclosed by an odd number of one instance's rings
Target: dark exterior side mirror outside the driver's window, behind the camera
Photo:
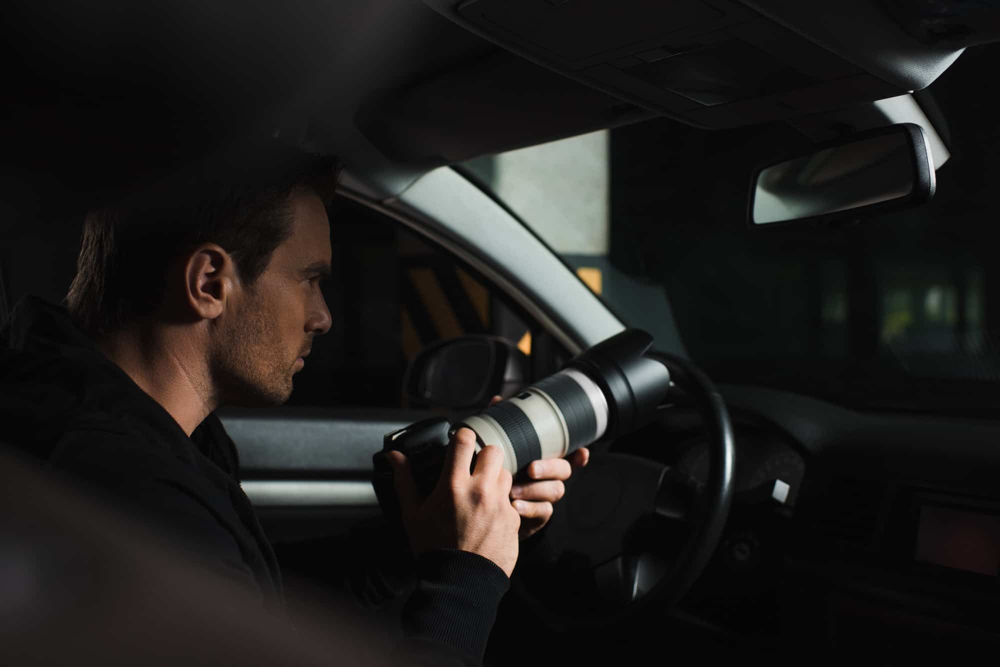
[[[471,409],[528,384],[530,373],[530,359],[507,338],[470,334],[421,349],[410,361],[403,385],[413,405]]]

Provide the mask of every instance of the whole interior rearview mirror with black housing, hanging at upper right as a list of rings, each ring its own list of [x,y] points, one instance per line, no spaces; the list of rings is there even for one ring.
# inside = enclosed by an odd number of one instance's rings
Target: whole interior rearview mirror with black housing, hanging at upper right
[[[758,169],[750,187],[750,224],[858,219],[913,208],[933,195],[924,132],[901,123]]]

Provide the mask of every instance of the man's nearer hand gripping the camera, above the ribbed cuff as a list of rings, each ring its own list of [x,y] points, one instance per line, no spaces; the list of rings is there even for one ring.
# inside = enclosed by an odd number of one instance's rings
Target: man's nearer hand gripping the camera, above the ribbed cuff
[[[469,473],[476,434],[459,428],[437,486],[420,497],[406,456],[389,452],[403,524],[417,555],[433,549],[461,549],[489,558],[509,577],[518,554],[521,517],[510,502],[511,475],[503,451],[483,447]]]

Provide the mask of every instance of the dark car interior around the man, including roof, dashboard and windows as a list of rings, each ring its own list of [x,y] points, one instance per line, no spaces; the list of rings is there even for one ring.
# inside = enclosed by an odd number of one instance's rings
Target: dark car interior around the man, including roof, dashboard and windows
[[[710,378],[692,386],[721,396],[735,467],[698,391],[594,443],[523,547],[486,664],[903,664],[1000,645],[1000,8],[3,13],[0,318],[25,295],[62,301],[88,210],[227,142],[266,132],[344,165],[331,331],[286,404],[220,409],[293,599],[335,589],[339,545],[378,521],[386,433],[461,419],[639,329]],[[911,147],[895,180],[838,180],[839,147],[874,156],[891,137]],[[866,199],[883,187],[906,196]],[[801,208],[762,218],[781,198]],[[463,340],[493,355],[441,352]],[[431,358],[447,391],[421,374]],[[682,520],[665,480],[690,494]]]

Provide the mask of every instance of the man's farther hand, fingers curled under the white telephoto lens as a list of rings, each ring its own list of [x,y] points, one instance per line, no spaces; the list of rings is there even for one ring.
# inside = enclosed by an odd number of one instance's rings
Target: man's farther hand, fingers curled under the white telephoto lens
[[[500,400],[500,396],[493,396],[490,405]],[[521,515],[521,539],[545,527],[552,518],[553,504],[566,492],[563,482],[569,479],[574,467],[583,467],[589,460],[590,450],[580,447],[566,458],[547,458],[528,465],[528,476],[533,481],[514,484],[510,491],[514,508]]]

